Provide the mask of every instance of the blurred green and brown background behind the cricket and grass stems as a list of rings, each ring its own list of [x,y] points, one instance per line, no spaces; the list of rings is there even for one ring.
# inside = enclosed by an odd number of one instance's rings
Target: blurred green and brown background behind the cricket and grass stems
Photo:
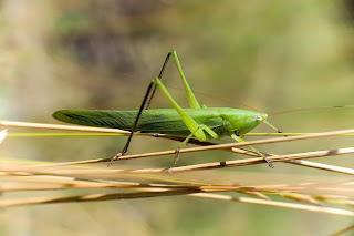
[[[0,3],[1,120],[60,123],[51,117],[60,109],[136,110],[171,49],[177,50],[196,96],[207,106],[246,104],[270,114],[354,104],[352,0]],[[164,76],[173,96],[187,107],[173,63]],[[157,93],[152,107],[170,105]],[[269,121],[284,132],[324,132],[353,129],[353,112],[313,110],[272,116]],[[257,131],[271,132],[267,125]],[[110,157],[125,140],[9,137],[0,146],[0,154],[6,158],[56,162]],[[351,141],[322,138],[259,148],[296,153],[346,147]],[[137,137],[129,153],[176,146],[175,142]],[[354,167],[350,157],[353,156],[317,161]],[[235,158],[238,156],[221,152],[195,153],[181,156],[178,164]],[[146,158],[119,165],[166,167],[171,160]],[[274,170],[258,165],[205,173],[218,179],[225,175],[239,184],[262,183],[264,176],[270,177],[269,183],[296,183],[300,177],[299,182],[350,179],[281,163]],[[1,235],[66,236],[283,235],[285,230],[287,235],[327,235],[353,223],[341,216],[183,196],[17,207],[2,211],[0,217]]]

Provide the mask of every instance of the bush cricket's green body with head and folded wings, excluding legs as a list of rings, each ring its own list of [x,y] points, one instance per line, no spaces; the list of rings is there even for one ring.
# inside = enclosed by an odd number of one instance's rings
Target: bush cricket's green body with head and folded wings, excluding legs
[[[258,126],[268,116],[264,113],[260,114],[254,111],[229,107],[184,109],[184,111],[198,124],[207,125],[220,137],[233,133],[243,135]],[[138,111],[61,110],[55,112],[53,116],[59,121],[72,124],[132,131],[137,113]],[[174,109],[143,111],[135,132],[177,136],[188,136],[190,134],[190,131]],[[208,133],[207,138],[211,138]]]

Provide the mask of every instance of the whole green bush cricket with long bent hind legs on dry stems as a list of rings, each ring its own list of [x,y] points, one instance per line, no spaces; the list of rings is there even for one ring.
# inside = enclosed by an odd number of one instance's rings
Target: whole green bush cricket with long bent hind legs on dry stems
[[[190,109],[181,109],[160,81],[170,57],[174,58],[181,78]],[[165,94],[174,109],[147,110],[156,88]],[[159,75],[148,85],[138,111],[61,110],[56,111],[53,116],[59,121],[72,124],[131,131],[124,148],[112,158],[111,163],[126,153],[134,132],[162,133],[185,137],[184,142],[181,142],[176,151],[175,163],[179,150],[192,137],[196,137],[200,142],[205,142],[210,138],[218,140],[221,136],[229,135],[237,142],[244,142],[240,136],[250,132],[262,122],[281,133],[277,127],[266,121],[268,117],[268,114],[266,113],[241,109],[206,107],[205,105],[200,105],[184,75],[175,50],[171,50],[167,54]],[[259,156],[262,156],[270,167],[273,167],[272,163],[267,160],[264,154],[252,146],[249,146],[249,148]]]

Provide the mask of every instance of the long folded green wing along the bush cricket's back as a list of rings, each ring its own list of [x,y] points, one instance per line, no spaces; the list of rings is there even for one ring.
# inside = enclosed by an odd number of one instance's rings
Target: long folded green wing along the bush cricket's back
[[[223,120],[218,109],[185,109],[186,113],[205,124],[217,134],[223,135]],[[137,111],[119,110],[61,110],[53,114],[53,117],[71,124],[115,127],[121,130],[132,130]],[[190,134],[185,123],[174,109],[145,110],[138,121],[136,131],[142,133],[164,133],[170,135],[186,136]]]

